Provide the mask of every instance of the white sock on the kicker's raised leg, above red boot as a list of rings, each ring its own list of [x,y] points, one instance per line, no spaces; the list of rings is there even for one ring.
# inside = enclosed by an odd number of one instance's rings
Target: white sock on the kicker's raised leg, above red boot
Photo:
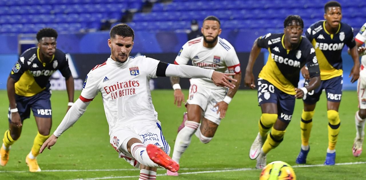
[[[131,146],[131,155],[136,159],[137,162],[149,167],[159,167],[155,164],[147,155],[146,146],[142,143],[134,143]],[[156,174],[156,173],[155,173]]]

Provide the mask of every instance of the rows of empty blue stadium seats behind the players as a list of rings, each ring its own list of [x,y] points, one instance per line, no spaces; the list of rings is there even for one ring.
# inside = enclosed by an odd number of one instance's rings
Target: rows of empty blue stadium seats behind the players
[[[0,0],[0,32],[36,33],[40,27],[53,27],[60,33],[99,30],[102,22],[120,23],[126,11],[127,22],[135,30],[175,31],[190,29],[190,21],[215,15],[228,30],[282,31],[289,14],[302,16],[305,27],[323,19],[326,0]],[[340,0],[343,21],[359,28],[366,19],[366,1]],[[148,12],[146,3],[152,4]],[[115,23],[115,24],[116,24]],[[114,25],[114,24],[112,24]],[[357,30],[357,29],[356,29]]]

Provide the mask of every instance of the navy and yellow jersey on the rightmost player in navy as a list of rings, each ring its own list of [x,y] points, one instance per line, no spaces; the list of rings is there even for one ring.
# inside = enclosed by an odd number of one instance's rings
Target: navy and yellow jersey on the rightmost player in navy
[[[325,29],[325,22],[325,20],[315,22],[305,32],[315,48],[321,80],[341,76],[343,74],[341,52],[344,44],[350,49],[356,45],[351,26],[341,22],[337,32],[330,34]]]

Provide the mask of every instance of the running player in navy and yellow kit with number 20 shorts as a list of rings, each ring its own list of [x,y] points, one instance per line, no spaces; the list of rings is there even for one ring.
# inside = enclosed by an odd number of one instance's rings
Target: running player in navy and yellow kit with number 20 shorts
[[[253,65],[261,48],[269,51],[268,61],[258,75],[258,103],[262,109],[259,133],[250,147],[249,158],[257,159],[258,169],[266,165],[266,154],[283,140],[291,121],[295,98],[302,98],[320,85],[320,70],[315,50],[302,37],[304,23],[300,16],[290,15],[284,21],[284,33],[266,34],[254,41],[245,72],[245,84],[255,88]],[[297,88],[300,69],[309,68],[309,86]],[[271,132],[267,135],[267,132]]]

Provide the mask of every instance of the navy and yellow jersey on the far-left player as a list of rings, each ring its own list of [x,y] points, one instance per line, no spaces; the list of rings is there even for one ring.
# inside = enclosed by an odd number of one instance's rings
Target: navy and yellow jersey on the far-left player
[[[56,49],[49,63],[42,62],[39,56],[39,48],[27,49],[11,69],[10,77],[16,81],[17,95],[29,97],[48,89],[51,86],[49,78],[57,70],[66,79],[71,76],[67,55],[61,50]]]

